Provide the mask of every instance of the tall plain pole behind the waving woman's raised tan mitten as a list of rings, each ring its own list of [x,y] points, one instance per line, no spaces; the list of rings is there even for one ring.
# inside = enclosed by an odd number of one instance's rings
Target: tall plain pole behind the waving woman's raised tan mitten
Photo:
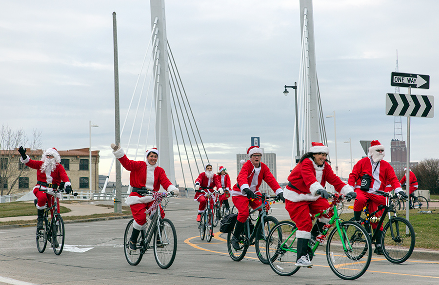
[[[118,65],[118,32],[116,12],[113,12],[113,49],[114,49],[114,119],[115,142],[120,144],[120,115],[119,115],[119,65]],[[116,159],[116,198],[114,199],[114,212],[122,212],[122,175],[120,162]]]

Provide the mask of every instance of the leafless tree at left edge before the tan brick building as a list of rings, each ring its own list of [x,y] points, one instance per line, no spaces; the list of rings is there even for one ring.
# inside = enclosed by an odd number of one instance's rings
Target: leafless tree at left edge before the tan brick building
[[[1,126],[0,131],[0,195],[12,194],[14,186],[19,182],[23,171],[29,169],[20,162],[18,147],[36,150],[41,147],[41,132],[34,130],[32,139],[23,129],[12,130],[8,126]]]

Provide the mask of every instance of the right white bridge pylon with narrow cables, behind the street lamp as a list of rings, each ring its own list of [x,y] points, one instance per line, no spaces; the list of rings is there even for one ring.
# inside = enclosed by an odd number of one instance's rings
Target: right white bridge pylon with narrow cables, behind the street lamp
[[[311,147],[311,142],[322,142],[327,145],[319,82],[317,80],[312,0],[300,0],[300,28],[298,123],[294,124],[291,169],[296,164],[296,156],[301,156],[307,152]],[[296,125],[299,127],[299,148],[295,147],[297,141]],[[295,153],[297,149],[300,153]]]

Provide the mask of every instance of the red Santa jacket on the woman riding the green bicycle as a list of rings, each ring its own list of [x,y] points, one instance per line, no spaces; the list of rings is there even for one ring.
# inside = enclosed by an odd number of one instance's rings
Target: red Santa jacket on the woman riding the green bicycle
[[[316,201],[320,197],[316,195],[317,190],[324,189],[326,182],[334,186],[339,193],[347,194],[353,191],[334,174],[329,163],[325,162],[319,167],[312,158],[305,158],[296,165],[288,175],[288,182],[283,197],[292,202]]]

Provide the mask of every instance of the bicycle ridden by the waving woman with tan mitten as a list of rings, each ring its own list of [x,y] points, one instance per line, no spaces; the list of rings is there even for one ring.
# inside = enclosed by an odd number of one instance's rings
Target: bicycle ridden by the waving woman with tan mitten
[[[142,191],[144,190],[144,191]],[[138,190],[142,195],[153,196],[154,203],[148,210],[151,210],[150,217],[151,223],[140,230],[140,235],[136,241],[136,248],[138,250],[132,251],[129,248],[130,237],[133,231],[134,219],[131,219],[126,225],[125,234],[123,236],[123,247],[125,251],[125,258],[128,264],[136,266],[140,263],[143,254],[148,249],[154,249],[154,258],[160,268],[169,268],[175,259],[177,252],[177,233],[174,224],[171,220],[161,218],[161,209],[164,211],[168,204],[170,197],[178,197],[173,192],[154,192],[142,188]],[[152,242],[152,245],[151,245]]]

